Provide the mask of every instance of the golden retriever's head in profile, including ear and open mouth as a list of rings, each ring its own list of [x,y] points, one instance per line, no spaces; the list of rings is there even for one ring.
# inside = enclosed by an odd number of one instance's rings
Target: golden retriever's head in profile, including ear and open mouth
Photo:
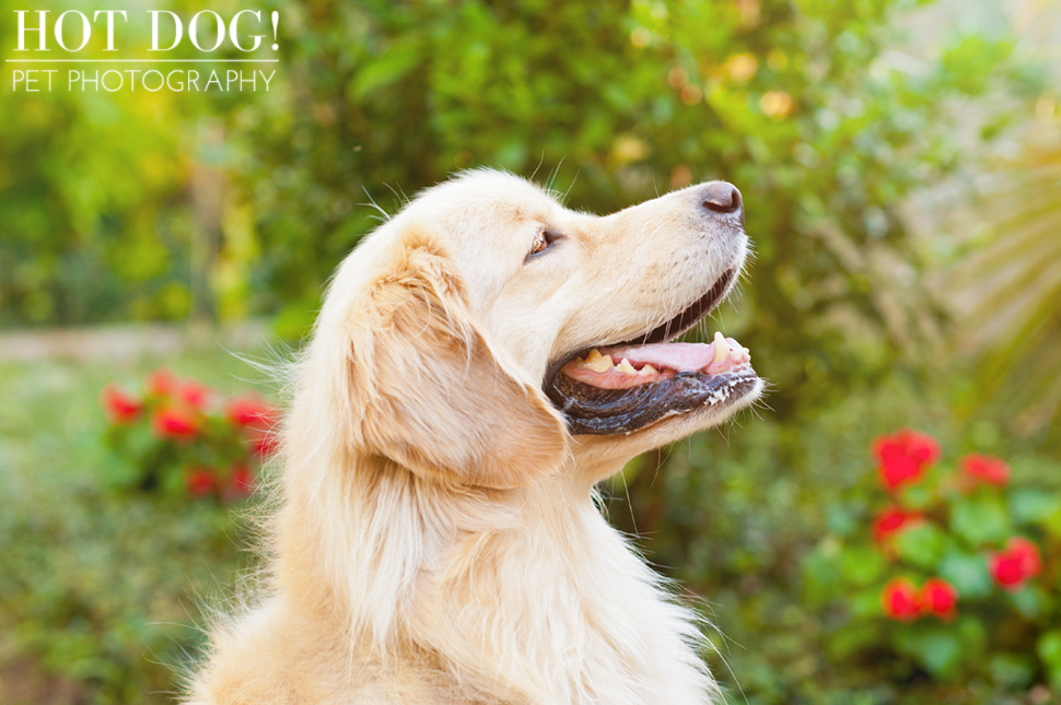
[[[318,403],[359,451],[498,489],[716,424],[761,391],[747,351],[668,341],[728,293],[743,225],[720,181],[598,218],[466,173],[339,268],[310,351]]]

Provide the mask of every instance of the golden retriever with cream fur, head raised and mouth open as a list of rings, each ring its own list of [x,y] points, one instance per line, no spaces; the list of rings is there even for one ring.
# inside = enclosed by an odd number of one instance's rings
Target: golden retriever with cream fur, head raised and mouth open
[[[761,393],[735,340],[668,343],[746,254],[724,181],[601,218],[474,171],[368,235],[295,363],[260,596],[186,702],[718,702],[595,485]]]

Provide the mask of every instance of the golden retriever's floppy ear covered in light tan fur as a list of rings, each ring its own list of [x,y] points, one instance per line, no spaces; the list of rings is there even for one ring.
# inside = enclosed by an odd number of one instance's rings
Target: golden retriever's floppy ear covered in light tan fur
[[[556,472],[564,423],[473,319],[452,259],[418,232],[395,259],[351,312],[350,392],[366,449],[419,474],[494,489]]]

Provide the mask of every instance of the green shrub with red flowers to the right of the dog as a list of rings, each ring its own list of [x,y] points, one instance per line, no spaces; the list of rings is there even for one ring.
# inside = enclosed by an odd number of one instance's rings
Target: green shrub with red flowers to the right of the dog
[[[829,657],[877,661],[898,682],[1061,685],[1061,493],[1008,486],[1008,466],[979,454],[935,466],[938,451],[911,432],[879,438],[872,526],[833,506],[852,530],[803,560],[808,603],[839,611]]]

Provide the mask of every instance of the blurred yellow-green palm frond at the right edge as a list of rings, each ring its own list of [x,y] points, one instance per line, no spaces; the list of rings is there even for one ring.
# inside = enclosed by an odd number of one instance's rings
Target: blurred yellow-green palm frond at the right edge
[[[1061,126],[1031,130],[986,199],[981,244],[951,280],[978,402],[1061,413]]]

